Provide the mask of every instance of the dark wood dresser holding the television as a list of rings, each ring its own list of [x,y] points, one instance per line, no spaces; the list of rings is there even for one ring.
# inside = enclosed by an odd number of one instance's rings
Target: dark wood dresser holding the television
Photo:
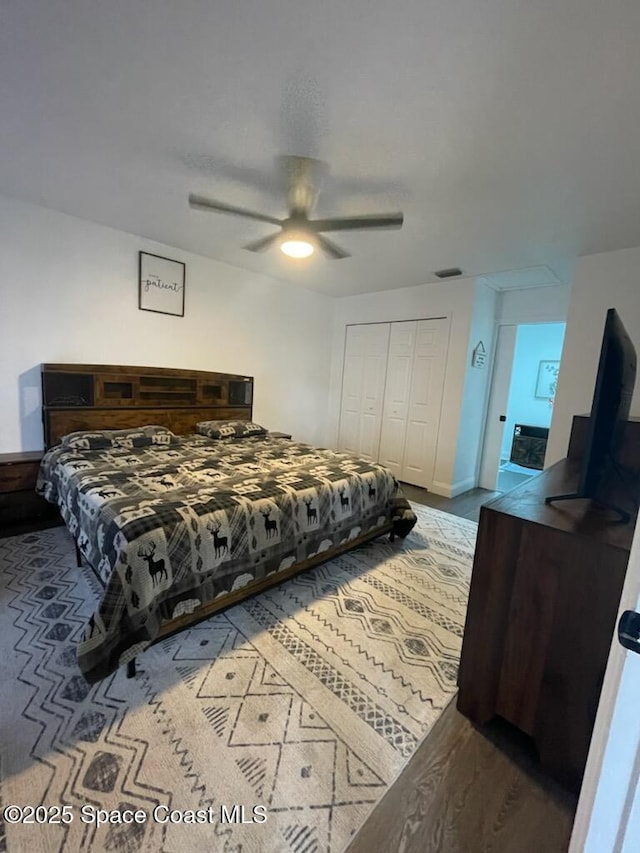
[[[578,500],[547,506],[578,482],[586,419],[574,419],[569,456],[480,512],[465,624],[458,709],[495,715],[533,739],[543,766],[579,789],[615,631],[635,515]],[[640,468],[640,422],[626,458]],[[615,482],[614,482],[615,480]],[[612,502],[631,508],[612,477]]]

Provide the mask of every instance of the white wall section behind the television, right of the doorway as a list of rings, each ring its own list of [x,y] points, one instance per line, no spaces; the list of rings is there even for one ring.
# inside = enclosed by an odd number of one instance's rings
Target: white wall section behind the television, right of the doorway
[[[545,459],[547,466],[567,455],[573,415],[591,409],[608,308],[617,309],[640,355],[640,248],[578,259]],[[640,415],[640,382],[636,382],[631,415]]]

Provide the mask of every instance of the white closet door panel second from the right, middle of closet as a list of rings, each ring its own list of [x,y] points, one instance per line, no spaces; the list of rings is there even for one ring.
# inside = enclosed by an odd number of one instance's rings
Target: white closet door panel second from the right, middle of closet
[[[392,323],[384,394],[380,462],[402,479],[417,321]]]

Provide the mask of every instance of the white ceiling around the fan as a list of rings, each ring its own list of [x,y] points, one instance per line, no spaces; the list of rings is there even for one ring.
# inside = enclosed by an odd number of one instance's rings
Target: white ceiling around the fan
[[[284,215],[278,154],[329,163],[317,214],[403,229],[296,263],[189,209]],[[0,192],[328,294],[565,280],[640,245],[640,2],[2,0]]]

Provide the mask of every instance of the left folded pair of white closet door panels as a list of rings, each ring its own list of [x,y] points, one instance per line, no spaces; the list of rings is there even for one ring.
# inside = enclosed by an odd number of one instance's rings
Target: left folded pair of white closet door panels
[[[338,447],[376,461],[380,445],[389,323],[347,327]]]

